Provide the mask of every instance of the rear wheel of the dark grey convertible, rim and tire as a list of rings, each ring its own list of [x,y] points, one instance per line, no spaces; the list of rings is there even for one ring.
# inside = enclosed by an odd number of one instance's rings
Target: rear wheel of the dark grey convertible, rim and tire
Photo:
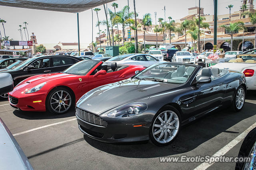
[[[244,106],[245,90],[243,86],[239,86],[234,96],[233,107],[235,111],[240,111]]]

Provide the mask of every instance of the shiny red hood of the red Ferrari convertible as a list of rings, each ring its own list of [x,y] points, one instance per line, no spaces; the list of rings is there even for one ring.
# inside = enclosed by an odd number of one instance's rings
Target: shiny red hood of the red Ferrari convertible
[[[37,86],[38,84],[41,84],[43,82],[58,81],[58,79],[60,78],[74,77],[74,76],[76,75],[66,74],[66,73],[41,74],[41,75],[32,76],[30,78],[25,79],[21,84],[16,86],[14,89],[19,91],[24,91],[26,89]]]

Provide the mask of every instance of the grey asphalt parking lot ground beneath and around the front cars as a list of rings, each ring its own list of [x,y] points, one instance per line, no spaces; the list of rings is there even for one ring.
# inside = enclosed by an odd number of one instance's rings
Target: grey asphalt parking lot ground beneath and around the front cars
[[[161,156],[237,156],[241,134],[256,122],[256,92],[249,91],[241,112],[224,109],[210,113],[182,128],[167,147],[150,141],[108,144],[84,137],[74,110],[64,115],[22,112],[0,101],[0,117],[10,129],[34,169],[230,169],[234,162],[160,163]],[[245,131],[245,133],[244,133]],[[235,141],[235,144],[233,143]],[[231,144],[230,144],[231,143]],[[237,143],[237,144],[236,144]]]

